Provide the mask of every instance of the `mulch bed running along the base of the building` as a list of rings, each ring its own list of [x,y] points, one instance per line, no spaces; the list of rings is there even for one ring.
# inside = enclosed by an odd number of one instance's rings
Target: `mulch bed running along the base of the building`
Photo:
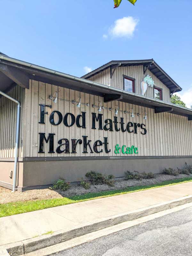
[[[10,202],[17,201],[30,201],[30,200],[41,200],[41,199],[53,199],[53,198],[62,198],[69,197],[75,195],[83,195],[86,193],[95,193],[105,190],[117,190],[123,189],[126,187],[133,186],[145,186],[145,185],[153,185],[156,183],[160,183],[165,180],[174,180],[180,178],[192,177],[192,174],[179,174],[177,176],[166,175],[166,174],[155,174],[154,179],[142,179],[142,180],[116,180],[114,183],[114,187],[109,187],[106,184],[103,185],[91,185],[90,189],[84,189],[77,184],[71,185],[71,187],[67,191],[60,190],[52,190],[49,188],[44,189],[33,189],[24,192],[16,191],[12,193],[10,189],[0,187],[0,204],[6,204]]]

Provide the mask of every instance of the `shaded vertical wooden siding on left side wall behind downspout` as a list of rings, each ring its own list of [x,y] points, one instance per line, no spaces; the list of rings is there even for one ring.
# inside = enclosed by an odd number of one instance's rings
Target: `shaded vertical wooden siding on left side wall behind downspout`
[[[11,97],[21,102],[20,115],[20,140],[18,156],[22,157],[22,112],[23,112],[23,97],[24,89],[20,86],[15,86],[11,91],[7,92]],[[0,97],[0,157],[15,157],[15,135],[16,135],[16,120],[17,120],[17,104],[5,97]]]

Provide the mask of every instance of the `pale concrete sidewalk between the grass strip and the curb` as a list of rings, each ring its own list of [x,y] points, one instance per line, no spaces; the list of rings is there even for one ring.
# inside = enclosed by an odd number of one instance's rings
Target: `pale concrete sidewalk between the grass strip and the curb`
[[[0,245],[75,229],[92,221],[192,195],[192,182],[0,218]]]

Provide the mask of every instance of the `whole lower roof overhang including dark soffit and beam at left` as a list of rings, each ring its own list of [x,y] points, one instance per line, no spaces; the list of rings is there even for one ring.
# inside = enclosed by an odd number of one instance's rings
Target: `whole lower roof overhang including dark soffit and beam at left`
[[[9,87],[10,83],[20,83],[20,86],[28,89],[29,79],[33,79],[79,92],[98,95],[104,97],[104,101],[106,96],[111,98],[114,97],[114,99],[118,96],[119,101],[143,107],[153,109],[159,107],[172,108],[172,110],[169,112],[181,116],[187,116],[188,120],[192,120],[192,109],[184,108],[170,102],[150,98],[133,92],[127,92],[122,89],[111,87],[109,85],[99,84],[84,78],[71,76],[49,68],[44,68],[0,54],[0,81],[4,76],[8,79],[7,82],[4,80],[4,83],[0,83],[0,90],[4,92],[11,88]]]

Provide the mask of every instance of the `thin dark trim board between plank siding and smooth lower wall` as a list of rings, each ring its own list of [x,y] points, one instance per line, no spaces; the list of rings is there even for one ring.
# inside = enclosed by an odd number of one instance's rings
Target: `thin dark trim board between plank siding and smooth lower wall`
[[[192,158],[192,156],[50,156],[50,157],[19,157],[18,162],[43,161],[76,161],[76,160],[110,160],[110,159],[168,159]],[[0,162],[14,162],[14,158],[0,158]]]

